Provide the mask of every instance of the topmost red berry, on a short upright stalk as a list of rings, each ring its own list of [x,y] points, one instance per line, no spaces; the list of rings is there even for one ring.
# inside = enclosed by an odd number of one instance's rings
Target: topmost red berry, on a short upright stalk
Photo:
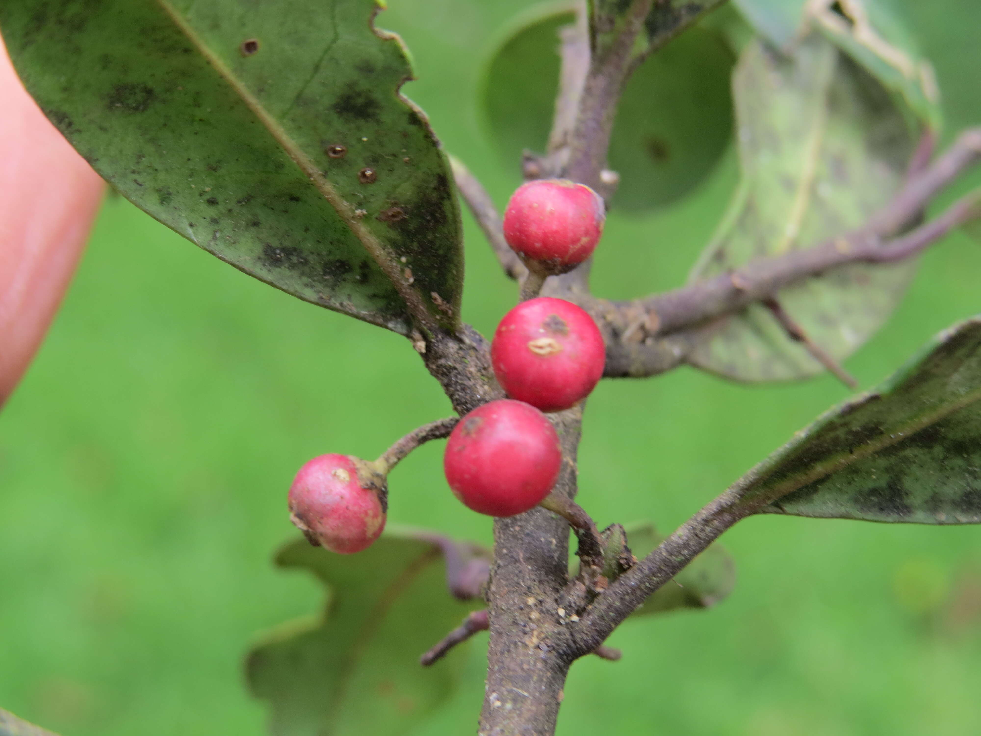
[[[511,195],[504,238],[529,268],[562,274],[593,254],[605,219],[602,198],[586,184],[539,179]]]

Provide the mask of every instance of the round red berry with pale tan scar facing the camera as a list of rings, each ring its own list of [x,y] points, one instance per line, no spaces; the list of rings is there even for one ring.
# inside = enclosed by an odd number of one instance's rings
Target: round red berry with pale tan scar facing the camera
[[[518,304],[497,325],[493,372],[512,398],[560,411],[593,391],[606,347],[593,318],[564,299],[540,296]]]

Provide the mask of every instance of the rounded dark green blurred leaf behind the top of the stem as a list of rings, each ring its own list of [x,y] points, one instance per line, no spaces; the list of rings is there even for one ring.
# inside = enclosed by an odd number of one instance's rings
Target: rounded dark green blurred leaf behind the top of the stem
[[[545,148],[558,87],[558,30],[573,21],[569,10],[546,6],[490,58],[482,104],[507,165],[517,168],[525,149]],[[667,204],[708,175],[732,137],[733,64],[722,34],[696,26],[638,68],[610,141],[609,163],[620,174],[617,207]]]

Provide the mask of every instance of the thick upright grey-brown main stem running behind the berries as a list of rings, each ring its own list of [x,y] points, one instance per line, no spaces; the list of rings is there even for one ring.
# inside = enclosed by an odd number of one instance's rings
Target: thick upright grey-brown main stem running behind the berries
[[[630,28],[623,43],[603,60],[593,59],[582,87],[578,79],[565,85],[576,96],[578,113],[571,135],[565,134],[572,116],[556,121],[552,141],[565,142],[564,149],[549,151],[549,176],[564,176],[590,184],[603,192],[600,173],[606,164],[609,133],[620,89],[628,75],[627,60],[633,33],[651,0],[634,0]],[[581,9],[585,13],[585,9]],[[580,24],[579,33],[586,28]],[[564,65],[588,45],[564,39]],[[582,60],[579,60],[582,61]],[[580,73],[581,74],[581,73]],[[580,89],[582,91],[580,91]],[[562,100],[556,109],[562,108]],[[560,130],[559,130],[560,129]],[[557,169],[557,171],[556,171]],[[539,174],[542,167],[538,168]],[[561,295],[575,301],[589,294],[589,262],[560,277],[545,281],[542,293]],[[583,420],[583,404],[550,415],[562,445],[562,471],[553,493],[573,499],[576,495],[576,453]],[[542,508],[494,522],[494,561],[490,571],[489,667],[482,736],[551,736],[555,731],[563,686],[569,666],[582,656],[573,646],[567,619],[560,614],[570,600],[568,586],[569,524]]]

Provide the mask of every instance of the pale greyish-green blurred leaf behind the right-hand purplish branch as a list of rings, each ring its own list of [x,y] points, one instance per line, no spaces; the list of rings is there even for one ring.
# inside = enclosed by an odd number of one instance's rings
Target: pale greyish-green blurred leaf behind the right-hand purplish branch
[[[741,181],[691,280],[805,248],[863,225],[902,184],[914,140],[883,87],[820,34],[792,57],[759,42],[733,78]],[[888,319],[913,261],[856,264],[783,289],[804,332],[841,360]],[[744,380],[798,379],[823,370],[754,305],[697,336],[690,362]]]

